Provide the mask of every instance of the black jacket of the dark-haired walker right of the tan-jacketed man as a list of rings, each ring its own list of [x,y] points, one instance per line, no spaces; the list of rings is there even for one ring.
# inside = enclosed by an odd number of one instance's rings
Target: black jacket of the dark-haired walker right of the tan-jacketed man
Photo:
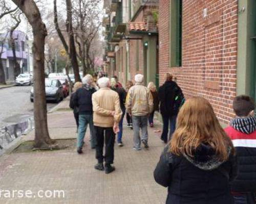
[[[160,101],[160,113],[162,115],[178,114],[177,111],[174,111],[174,101],[178,90],[180,90],[180,87],[174,81],[166,81],[159,87],[158,97]]]

